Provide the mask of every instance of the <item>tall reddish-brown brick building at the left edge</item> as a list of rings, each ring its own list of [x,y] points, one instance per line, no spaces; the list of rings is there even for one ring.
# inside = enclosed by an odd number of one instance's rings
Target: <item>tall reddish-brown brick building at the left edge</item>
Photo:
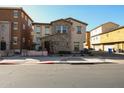
[[[0,7],[0,50],[31,49],[32,22],[20,7]]]

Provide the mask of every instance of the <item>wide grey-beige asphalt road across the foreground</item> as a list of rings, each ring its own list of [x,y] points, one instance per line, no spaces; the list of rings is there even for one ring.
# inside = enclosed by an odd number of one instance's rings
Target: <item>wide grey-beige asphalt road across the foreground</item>
[[[124,64],[0,65],[0,87],[120,88],[124,87]]]

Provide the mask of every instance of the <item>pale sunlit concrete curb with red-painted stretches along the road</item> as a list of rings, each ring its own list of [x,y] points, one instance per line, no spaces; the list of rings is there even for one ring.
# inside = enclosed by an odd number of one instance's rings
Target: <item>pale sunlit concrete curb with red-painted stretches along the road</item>
[[[104,64],[104,63],[118,63],[124,64],[121,62],[117,62],[111,59],[88,59],[85,61],[39,61],[39,60],[2,60],[0,61],[1,64]]]

